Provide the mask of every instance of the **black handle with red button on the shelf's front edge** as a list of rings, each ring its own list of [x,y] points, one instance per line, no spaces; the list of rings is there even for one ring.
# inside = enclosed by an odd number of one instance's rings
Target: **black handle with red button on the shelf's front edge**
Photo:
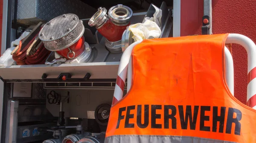
[[[87,81],[88,79],[90,79],[90,73],[86,73],[85,76],[83,78],[71,78],[72,75],[70,73],[61,73],[57,78],[47,78],[47,74],[44,73],[42,75],[42,79],[44,81],[48,81],[48,82],[79,82],[79,81]]]

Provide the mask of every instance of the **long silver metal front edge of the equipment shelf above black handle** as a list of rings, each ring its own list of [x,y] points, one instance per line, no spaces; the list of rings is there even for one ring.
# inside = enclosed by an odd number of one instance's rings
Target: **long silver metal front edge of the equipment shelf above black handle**
[[[60,73],[71,73],[73,78],[82,77],[87,72],[90,79],[116,79],[119,62],[94,62],[79,64],[52,65],[12,65],[0,67],[3,79],[41,79],[43,73],[47,78],[56,78]]]

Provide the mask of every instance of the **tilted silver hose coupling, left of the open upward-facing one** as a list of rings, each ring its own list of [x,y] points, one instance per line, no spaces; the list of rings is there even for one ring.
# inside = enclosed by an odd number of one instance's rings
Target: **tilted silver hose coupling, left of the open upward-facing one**
[[[99,27],[108,19],[107,9],[106,8],[98,8],[98,11],[90,18],[88,25],[91,27],[96,26]]]

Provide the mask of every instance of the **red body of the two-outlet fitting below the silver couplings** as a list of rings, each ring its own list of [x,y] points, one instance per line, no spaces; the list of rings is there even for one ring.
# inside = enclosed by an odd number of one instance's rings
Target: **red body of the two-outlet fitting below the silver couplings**
[[[126,30],[126,27],[131,23],[128,23],[124,26],[119,26],[114,24],[110,19],[102,25],[100,28],[97,28],[100,34],[108,39],[108,41],[115,42],[122,39],[122,34]]]

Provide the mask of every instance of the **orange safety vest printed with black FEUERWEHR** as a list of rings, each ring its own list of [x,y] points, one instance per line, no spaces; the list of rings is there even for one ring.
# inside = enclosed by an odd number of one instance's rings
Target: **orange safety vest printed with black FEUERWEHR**
[[[147,39],[131,90],[111,107],[105,143],[256,143],[256,110],[225,79],[228,34]]]

